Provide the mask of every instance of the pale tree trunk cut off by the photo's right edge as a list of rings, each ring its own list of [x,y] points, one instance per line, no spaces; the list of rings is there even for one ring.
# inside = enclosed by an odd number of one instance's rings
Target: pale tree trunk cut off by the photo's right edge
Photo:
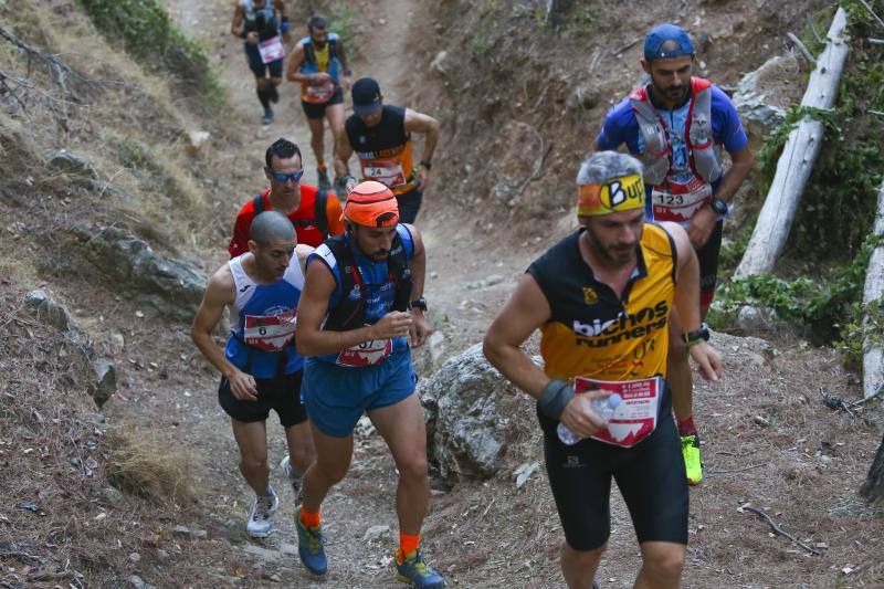
[[[873,234],[884,236],[884,182],[877,190],[877,214]],[[884,245],[877,245],[869,259],[869,270],[865,272],[865,288],[863,290],[863,308],[866,317],[864,325],[875,325],[875,317],[881,307],[877,302],[884,299]],[[875,395],[884,386],[884,346],[881,343],[882,334],[871,330],[873,336],[866,336],[863,341],[863,397]]]

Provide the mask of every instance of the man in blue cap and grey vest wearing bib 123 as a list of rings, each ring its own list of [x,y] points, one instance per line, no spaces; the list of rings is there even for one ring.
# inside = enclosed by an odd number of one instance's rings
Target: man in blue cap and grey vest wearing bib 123
[[[722,222],[755,158],[730,98],[708,80],[692,76],[694,44],[684,29],[671,23],[651,29],[641,64],[651,82],[608,112],[597,149],[627,144],[644,165],[649,221],[674,221],[687,230],[699,260],[701,316],[705,318],[715,295]],[[722,147],[730,154],[728,169]],[[687,482],[697,484],[703,469],[682,332],[674,314],[667,375]]]

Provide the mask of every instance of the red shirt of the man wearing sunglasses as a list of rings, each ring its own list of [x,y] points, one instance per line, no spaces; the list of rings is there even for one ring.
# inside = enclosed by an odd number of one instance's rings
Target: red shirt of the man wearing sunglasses
[[[264,210],[270,211],[270,199],[267,194],[270,190],[264,190],[261,198],[264,201]],[[327,192],[325,214],[326,223],[328,227],[329,235],[339,235],[344,233],[344,222],[340,220],[340,201],[333,192]],[[313,222],[316,218],[316,187],[301,185],[301,206],[296,211],[288,213],[286,217],[292,220],[297,233],[297,242],[313,245],[316,248],[324,241],[324,235],[319,233]],[[236,222],[233,224],[233,239],[230,240],[228,251],[231,257],[244,254],[249,251],[249,229],[252,227],[252,220],[255,218],[255,203],[254,199],[249,199],[249,202],[243,204],[240,212],[236,214]],[[304,223],[308,221],[308,223]]]

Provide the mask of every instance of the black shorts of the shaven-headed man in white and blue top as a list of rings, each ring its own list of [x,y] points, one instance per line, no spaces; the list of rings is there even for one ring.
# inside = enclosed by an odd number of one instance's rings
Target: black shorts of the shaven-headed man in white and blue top
[[[264,421],[270,410],[276,411],[283,428],[291,428],[307,420],[307,410],[301,400],[303,370],[277,378],[256,378],[257,400],[240,401],[230,390],[230,381],[221,378],[218,402],[228,416],[238,421]]]

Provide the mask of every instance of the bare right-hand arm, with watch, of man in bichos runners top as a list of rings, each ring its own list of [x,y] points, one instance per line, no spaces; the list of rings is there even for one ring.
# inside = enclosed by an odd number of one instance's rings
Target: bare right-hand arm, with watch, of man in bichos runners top
[[[687,232],[677,223],[661,223],[661,227],[672,235],[675,251],[678,256],[677,282],[675,283],[675,308],[682,328],[686,332],[699,329],[702,319],[699,315],[699,262]],[[722,358],[718,353],[703,341],[688,346],[691,357],[697,364],[699,374],[706,380],[718,380],[722,375]]]

